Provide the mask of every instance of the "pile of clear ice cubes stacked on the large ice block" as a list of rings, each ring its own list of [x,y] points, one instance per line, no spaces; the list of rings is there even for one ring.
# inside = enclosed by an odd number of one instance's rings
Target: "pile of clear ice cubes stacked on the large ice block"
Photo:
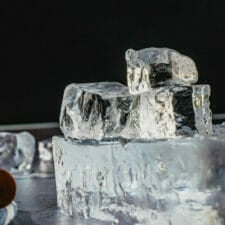
[[[192,85],[192,59],[167,48],[127,50],[128,87],[116,82],[71,84],[60,127],[65,137],[162,139],[212,134],[209,85]]]

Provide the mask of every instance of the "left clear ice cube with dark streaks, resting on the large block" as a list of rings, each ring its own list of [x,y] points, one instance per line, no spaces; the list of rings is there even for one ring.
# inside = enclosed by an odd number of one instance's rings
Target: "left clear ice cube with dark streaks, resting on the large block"
[[[66,137],[78,139],[118,136],[132,98],[117,82],[70,84],[63,96],[60,128]]]

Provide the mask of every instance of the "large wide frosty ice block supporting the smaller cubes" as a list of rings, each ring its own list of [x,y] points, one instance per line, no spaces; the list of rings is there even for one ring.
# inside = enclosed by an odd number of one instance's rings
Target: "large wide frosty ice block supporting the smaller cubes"
[[[58,206],[96,224],[223,225],[225,141],[53,138]]]

